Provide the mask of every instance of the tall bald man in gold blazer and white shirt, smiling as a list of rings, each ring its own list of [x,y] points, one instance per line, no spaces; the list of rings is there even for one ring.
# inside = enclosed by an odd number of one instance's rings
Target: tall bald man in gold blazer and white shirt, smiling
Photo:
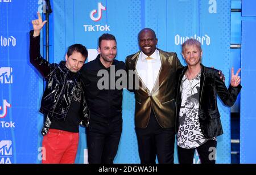
[[[156,48],[158,39],[150,28],[139,32],[140,51],[126,58],[134,70],[135,131],[141,163],[174,163],[175,77],[182,67],[177,54]],[[130,72],[130,71],[129,71]]]

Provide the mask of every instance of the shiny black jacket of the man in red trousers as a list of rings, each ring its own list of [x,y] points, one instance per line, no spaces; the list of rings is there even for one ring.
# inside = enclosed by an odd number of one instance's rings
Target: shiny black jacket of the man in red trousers
[[[50,64],[40,55],[40,36],[33,37],[33,31],[30,32],[30,62],[46,80],[46,89],[40,107],[40,112],[47,116],[42,130],[42,134],[46,135],[52,118],[65,120],[75,87],[81,86],[82,89],[84,85],[80,73],[74,74],[69,71],[65,61]],[[85,96],[82,99],[80,125],[86,127],[89,124],[89,109]]]

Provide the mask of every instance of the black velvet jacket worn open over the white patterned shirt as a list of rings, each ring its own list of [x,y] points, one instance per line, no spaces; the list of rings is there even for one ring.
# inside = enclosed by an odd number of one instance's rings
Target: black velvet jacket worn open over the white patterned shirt
[[[240,93],[242,86],[229,86],[227,89],[225,83],[220,79],[218,70],[201,65],[200,96],[199,96],[199,122],[201,131],[205,138],[213,138],[223,134],[220,113],[217,106],[217,95],[221,101],[232,106]],[[176,131],[179,127],[179,113],[181,105],[180,86],[181,80],[188,67],[177,70],[177,96],[176,96]]]

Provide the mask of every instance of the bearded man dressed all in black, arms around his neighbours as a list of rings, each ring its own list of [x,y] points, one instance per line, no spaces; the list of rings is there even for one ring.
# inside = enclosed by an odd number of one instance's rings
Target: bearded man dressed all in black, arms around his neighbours
[[[122,133],[122,92],[118,86],[125,63],[115,59],[117,42],[109,33],[98,39],[97,58],[81,70],[84,92],[90,109],[90,125],[86,128],[89,164],[112,164]],[[104,81],[102,81],[104,80]],[[125,83],[124,83],[125,84]]]

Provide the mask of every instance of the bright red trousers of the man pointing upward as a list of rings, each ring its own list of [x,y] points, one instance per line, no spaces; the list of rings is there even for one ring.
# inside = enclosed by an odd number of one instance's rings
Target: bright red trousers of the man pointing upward
[[[45,148],[43,164],[73,164],[75,163],[79,133],[49,129],[43,137]]]

